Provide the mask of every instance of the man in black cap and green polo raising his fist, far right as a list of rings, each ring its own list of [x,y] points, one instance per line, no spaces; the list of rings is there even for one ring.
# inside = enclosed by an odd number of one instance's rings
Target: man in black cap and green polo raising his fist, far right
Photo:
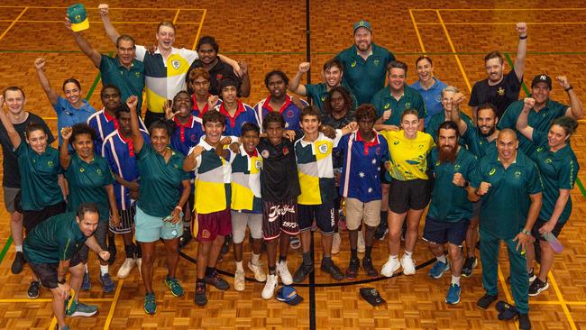
[[[536,100],[536,104],[529,110],[528,124],[537,131],[547,132],[550,124],[557,117],[567,115],[578,120],[584,115],[580,98],[574,92],[568,78],[558,76],[555,79],[563,90],[568,93],[570,106],[563,105],[549,98],[552,91],[552,78],[549,78],[545,73],[533,78],[533,82],[531,83],[531,97]],[[523,100],[513,102],[509,105],[505,114],[500,118],[497,127],[499,130],[510,128],[515,131],[519,141],[519,149],[526,155],[531,155],[536,151],[536,145],[517,131],[517,119],[523,110],[523,105]]]

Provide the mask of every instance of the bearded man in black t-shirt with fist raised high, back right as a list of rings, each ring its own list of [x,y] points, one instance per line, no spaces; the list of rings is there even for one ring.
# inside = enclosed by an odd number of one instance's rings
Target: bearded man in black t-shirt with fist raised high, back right
[[[525,73],[525,56],[527,52],[527,25],[517,23],[519,42],[517,45],[517,56],[515,67],[504,74],[505,58],[498,50],[490,51],[484,57],[484,64],[488,78],[477,81],[472,87],[472,94],[468,105],[472,107],[472,116],[476,118],[478,105],[490,102],[497,108],[497,117],[505,112],[508,105],[517,101],[523,74]],[[515,124],[513,123],[513,127]]]

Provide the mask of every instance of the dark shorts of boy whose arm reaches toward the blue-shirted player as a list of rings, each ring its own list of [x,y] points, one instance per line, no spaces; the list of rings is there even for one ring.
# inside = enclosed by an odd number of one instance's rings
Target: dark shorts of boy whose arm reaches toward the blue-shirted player
[[[316,219],[317,227],[322,234],[333,235],[335,233],[336,212],[334,203],[329,202],[321,205],[299,205],[299,231],[305,232],[311,229],[311,225]]]

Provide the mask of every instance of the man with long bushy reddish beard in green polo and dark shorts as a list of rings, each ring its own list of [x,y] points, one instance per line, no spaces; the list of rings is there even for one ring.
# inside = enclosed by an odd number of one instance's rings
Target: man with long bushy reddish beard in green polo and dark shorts
[[[438,146],[431,151],[429,161],[435,181],[423,230],[423,239],[429,243],[437,260],[429,270],[429,276],[439,279],[445,271],[452,270],[452,282],[445,298],[450,305],[460,302],[461,249],[472,217],[472,203],[468,200],[466,188],[477,163],[476,157],[462,147],[459,140],[457,124],[452,121],[440,124]],[[445,243],[450,261],[445,258]]]

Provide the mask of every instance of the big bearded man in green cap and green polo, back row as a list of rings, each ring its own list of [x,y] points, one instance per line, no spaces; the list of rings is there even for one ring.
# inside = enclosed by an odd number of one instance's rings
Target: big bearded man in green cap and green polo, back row
[[[354,23],[354,44],[335,59],[343,63],[343,84],[354,92],[358,105],[371,102],[374,93],[385,87],[387,64],[395,60],[389,50],[372,42],[371,23]]]

